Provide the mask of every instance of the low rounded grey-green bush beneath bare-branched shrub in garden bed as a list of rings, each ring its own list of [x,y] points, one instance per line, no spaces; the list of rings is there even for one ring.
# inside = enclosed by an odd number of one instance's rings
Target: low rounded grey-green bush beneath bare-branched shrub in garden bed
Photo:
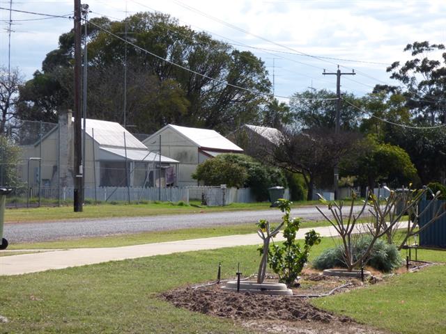
[[[364,253],[371,242],[371,237],[364,236],[357,239],[353,246],[353,260]],[[344,248],[339,245],[334,248],[325,249],[313,262],[313,267],[318,270],[331,269],[335,267],[346,267],[343,260]],[[387,244],[383,239],[376,240],[371,249],[366,265],[385,273],[401,267],[402,259],[397,246]]]

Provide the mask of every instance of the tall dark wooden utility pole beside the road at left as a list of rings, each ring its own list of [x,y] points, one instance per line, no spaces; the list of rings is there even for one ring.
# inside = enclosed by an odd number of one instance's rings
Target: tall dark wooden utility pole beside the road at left
[[[82,212],[82,111],[81,111],[81,1],[75,0],[75,191],[73,194],[75,212]]]

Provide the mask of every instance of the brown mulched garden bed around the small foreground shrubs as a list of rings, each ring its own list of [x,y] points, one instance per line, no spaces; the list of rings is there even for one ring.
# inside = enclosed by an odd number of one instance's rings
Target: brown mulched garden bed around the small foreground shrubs
[[[416,267],[423,262],[411,262]],[[401,272],[401,271],[400,271]],[[293,296],[269,296],[227,292],[221,285],[205,287],[180,287],[164,292],[162,299],[173,303],[178,308],[187,308],[193,312],[224,317],[237,321],[242,326],[254,331],[274,333],[387,333],[375,328],[357,324],[348,317],[334,315],[316,308],[309,303],[309,298],[302,295],[339,294],[364,285],[380,283],[382,274],[374,271],[374,276],[362,283],[360,280],[322,276],[318,271],[306,269],[300,278],[300,285],[293,287]],[[266,281],[276,281],[268,276]],[[340,289],[336,289],[339,288]]]

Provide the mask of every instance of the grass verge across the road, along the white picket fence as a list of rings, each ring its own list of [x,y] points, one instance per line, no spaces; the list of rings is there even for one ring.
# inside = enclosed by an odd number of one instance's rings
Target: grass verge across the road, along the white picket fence
[[[295,202],[293,206],[312,205],[314,203],[317,203],[317,201],[302,201]],[[26,221],[57,221],[77,218],[158,216],[162,214],[197,214],[201,212],[249,211],[261,209],[270,209],[270,203],[233,203],[224,207],[194,207],[192,205],[176,205],[169,202],[149,202],[146,204],[130,205],[119,203],[116,205],[85,205],[83,212],[73,212],[73,208],[70,205],[63,207],[6,209],[5,222],[16,223]]]

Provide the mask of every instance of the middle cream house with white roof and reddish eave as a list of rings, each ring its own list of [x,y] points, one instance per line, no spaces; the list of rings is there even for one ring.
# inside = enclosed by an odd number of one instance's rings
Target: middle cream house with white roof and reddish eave
[[[197,185],[192,174],[207,159],[222,153],[241,153],[243,149],[214,130],[166,125],[143,141],[149,150],[160,150],[165,157],[180,161],[179,186]]]

